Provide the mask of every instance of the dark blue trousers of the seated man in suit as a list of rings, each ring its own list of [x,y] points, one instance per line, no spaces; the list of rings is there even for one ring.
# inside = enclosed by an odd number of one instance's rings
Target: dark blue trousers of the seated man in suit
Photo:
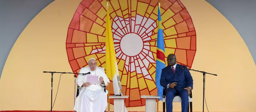
[[[166,89],[166,112],[173,112],[173,98],[175,96],[181,97],[181,111],[188,112],[189,107],[189,95],[186,89],[178,91],[175,88]]]

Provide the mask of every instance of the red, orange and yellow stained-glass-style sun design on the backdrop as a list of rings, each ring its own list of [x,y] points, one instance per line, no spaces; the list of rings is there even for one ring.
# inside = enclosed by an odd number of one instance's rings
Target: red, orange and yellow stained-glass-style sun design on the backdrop
[[[155,85],[158,0],[110,0],[109,13],[118,69],[127,107],[143,106],[140,95],[157,95]],[[161,0],[165,56],[191,68],[196,52],[192,19],[179,0]],[[75,73],[97,59],[105,68],[106,1],[83,0],[67,32],[66,49]],[[113,84],[110,85],[113,95]],[[110,101],[113,104],[113,100]]]

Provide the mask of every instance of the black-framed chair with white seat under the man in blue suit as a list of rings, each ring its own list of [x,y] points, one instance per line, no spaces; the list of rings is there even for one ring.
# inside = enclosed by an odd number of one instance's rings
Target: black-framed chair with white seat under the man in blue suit
[[[166,93],[165,93],[165,87],[163,87],[163,112],[165,112],[165,103],[166,103]],[[190,95],[189,95],[189,107],[190,107],[190,112],[192,112],[192,90],[190,91]],[[173,102],[181,102],[181,97],[179,96],[175,96],[173,98]],[[188,107],[188,111],[189,111],[189,107]]]

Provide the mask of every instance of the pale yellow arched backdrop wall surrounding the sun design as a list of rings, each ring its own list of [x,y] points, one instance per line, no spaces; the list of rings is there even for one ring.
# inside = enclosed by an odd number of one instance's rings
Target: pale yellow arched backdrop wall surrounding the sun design
[[[206,1],[181,1],[193,19],[197,33],[197,51],[192,69],[218,74],[206,75],[205,97],[209,111],[256,111],[253,83],[256,66],[241,36]],[[51,74],[42,71],[72,71],[65,41],[67,28],[80,2],[52,2],[21,33],[3,68],[0,80],[1,111],[50,110]],[[203,76],[194,71],[191,74],[194,80],[193,111],[202,111]],[[53,99],[59,76],[54,74]],[[74,77],[63,74],[53,110],[72,111],[73,105]],[[181,111],[180,103],[173,106],[173,111]],[[159,102],[159,107],[162,111],[162,102]],[[127,110],[145,111],[145,106]]]

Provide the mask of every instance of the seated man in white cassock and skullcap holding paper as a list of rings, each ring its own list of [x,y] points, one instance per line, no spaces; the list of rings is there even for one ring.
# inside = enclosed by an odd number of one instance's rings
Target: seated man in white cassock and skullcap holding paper
[[[107,108],[107,93],[104,92],[104,86],[110,83],[109,78],[104,70],[97,68],[96,59],[88,60],[88,67],[81,68],[79,73],[88,73],[89,75],[99,76],[98,84],[87,82],[88,75],[78,75],[77,85],[81,91],[74,105],[77,112],[104,112]]]

